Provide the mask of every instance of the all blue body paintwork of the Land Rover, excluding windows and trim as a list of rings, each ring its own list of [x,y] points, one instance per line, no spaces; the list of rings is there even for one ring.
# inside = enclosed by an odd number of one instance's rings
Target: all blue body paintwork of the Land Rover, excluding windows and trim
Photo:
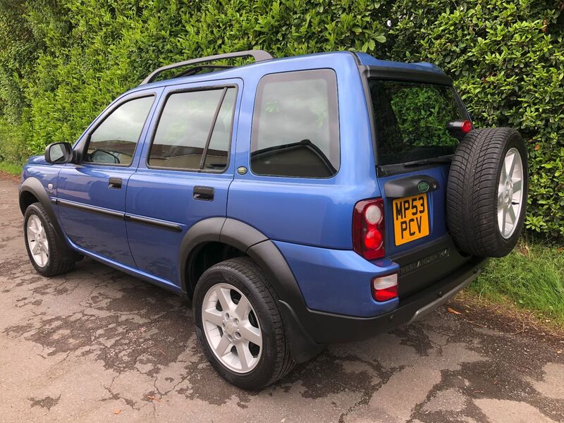
[[[243,221],[264,233],[282,252],[305,298],[307,306],[324,312],[372,317],[388,312],[398,300],[384,303],[372,299],[374,276],[390,274],[398,265],[389,259],[369,262],[352,251],[352,216],[356,202],[381,197],[386,180],[377,178],[370,117],[358,65],[442,71],[430,63],[380,61],[367,54],[340,51],[295,56],[253,63],[216,73],[194,75],[135,87],[110,104],[75,142],[75,149],[114,107],[129,97],[153,93],[155,102],[142,131],[130,167],[49,165],[44,157],[32,157],[23,179],[35,177],[51,198],[88,204],[133,216],[149,217],[180,226],[180,232],[123,221],[109,216],[55,207],[70,245],[78,252],[180,293],[178,255],[188,229],[214,216]],[[341,137],[341,168],[329,179],[255,176],[250,171],[250,136],[257,82],[268,73],[329,68],[336,73]],[[186,87],[238,85],[231,159],[224,173],[197,173],[147,168],[149,142],[166,92]],[[245,166],[244,175],[235,168]],[[446,183],[446,166],[414,174],[433,176]],[[405,176],[404,173],[401,176]],[[110,190],[108,179],[123,179],[121,190]],[[195,185],[215,189],[213,202],[192,198]],[[446,231],[444,190],[429,197],[431,234],[402,247],[393,245],[391,202],[386,202],[386,252],[393,255],[424,245]]]

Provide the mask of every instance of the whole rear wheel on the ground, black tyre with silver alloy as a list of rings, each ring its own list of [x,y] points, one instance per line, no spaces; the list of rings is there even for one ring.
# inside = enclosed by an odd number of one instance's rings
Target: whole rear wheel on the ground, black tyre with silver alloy
[[[202,274],[194,320],[207,360],[235,386],[263,388],[294,366],[276,293],[250,258],[229,259]]]

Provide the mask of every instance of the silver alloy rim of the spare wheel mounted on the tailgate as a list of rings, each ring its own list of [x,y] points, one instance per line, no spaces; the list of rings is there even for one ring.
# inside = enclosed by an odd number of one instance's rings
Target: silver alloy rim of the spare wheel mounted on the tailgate
[[[498,228],[507,239],[517,228],[523,202],[523,161],[516,148],[508,149],[503,159],[498,185]]]

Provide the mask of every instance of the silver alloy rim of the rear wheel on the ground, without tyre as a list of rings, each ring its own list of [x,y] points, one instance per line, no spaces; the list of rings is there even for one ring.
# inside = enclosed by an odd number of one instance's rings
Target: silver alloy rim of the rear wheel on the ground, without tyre
[[[225,367],[236,373],[257,367],[262,332],[255,309],[240,290],[229,283],[209,288],[202,304],[202,326],[209,348]]]

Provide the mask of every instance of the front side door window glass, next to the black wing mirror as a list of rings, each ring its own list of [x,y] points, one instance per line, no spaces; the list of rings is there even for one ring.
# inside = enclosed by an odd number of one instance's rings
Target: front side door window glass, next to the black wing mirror
[[[90,134],[84,161],[130,165],[154,97],[121,104]]]

